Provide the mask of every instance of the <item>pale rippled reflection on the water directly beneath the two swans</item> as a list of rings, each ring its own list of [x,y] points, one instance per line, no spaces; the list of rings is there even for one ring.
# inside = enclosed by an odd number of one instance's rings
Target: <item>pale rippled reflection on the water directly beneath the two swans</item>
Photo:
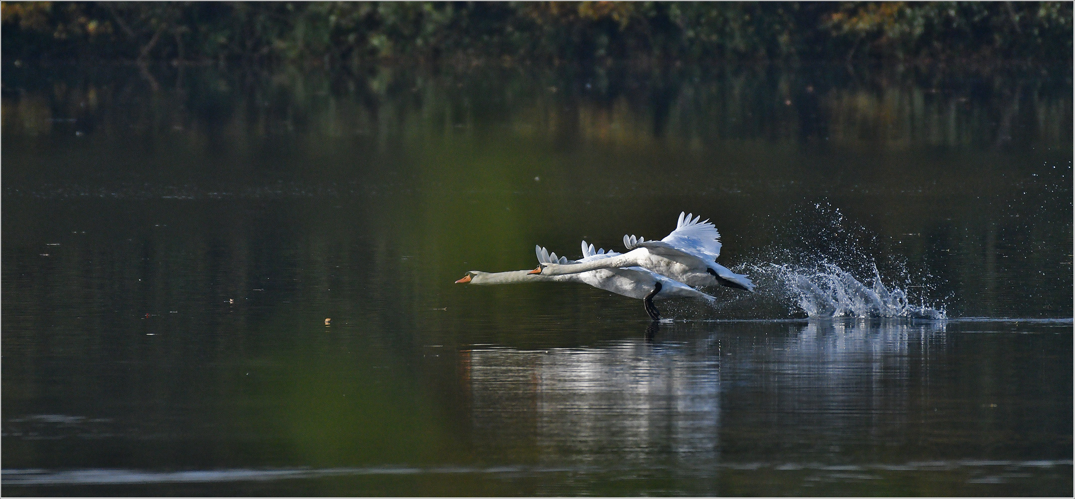
[[[476,432],[494,450],[534,431],[543,458],[676,470],[719,458],[720,371],[704,341],[485,348],[463,357]]]

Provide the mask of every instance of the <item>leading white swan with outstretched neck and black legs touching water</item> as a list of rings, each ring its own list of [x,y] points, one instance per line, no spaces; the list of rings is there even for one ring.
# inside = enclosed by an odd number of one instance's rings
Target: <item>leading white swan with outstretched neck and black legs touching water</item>
[[[542,265],[580,265],[590,261],[600,261],[620,254],[616,252],[605,252],[604,248],[594,250],[592,244],[583,241],[583,258],[579,260],[569,260],[567,257],[558,257],[556,253],[549,253],[544,247],[534,246],[538,255],[538,262]],[[516,284],[533,282],[574,282],[585,283],[596,288],[612,291],[629,298],[641,299],[646,314],[654,320],[660,320],[660,311],[654,305],[654,300],[668,298],[702,298],[710,303],[716,298],[694,289],[678,281],[665,277],[641,267],[630,268],[608,268],[597,269],[586,272],[576,272],[562,275],[541,275],[531,271],[516,270],[510,272],[482,272],[471,270],[467,272],[456,284],[493,285],[493,284]]]

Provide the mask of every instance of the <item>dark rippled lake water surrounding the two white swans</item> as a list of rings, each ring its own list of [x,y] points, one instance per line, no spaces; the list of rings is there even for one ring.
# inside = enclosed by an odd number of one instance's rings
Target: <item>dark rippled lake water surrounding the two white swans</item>
[[[1067,68],[2,79],[4,495],[1072,494]]]

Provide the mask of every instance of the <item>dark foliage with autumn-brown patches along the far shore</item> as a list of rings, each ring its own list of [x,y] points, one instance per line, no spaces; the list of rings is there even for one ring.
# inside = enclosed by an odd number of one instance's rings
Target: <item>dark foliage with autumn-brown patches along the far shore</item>
[[[1070,2],[3,2],[3,57],[1071,59]]]

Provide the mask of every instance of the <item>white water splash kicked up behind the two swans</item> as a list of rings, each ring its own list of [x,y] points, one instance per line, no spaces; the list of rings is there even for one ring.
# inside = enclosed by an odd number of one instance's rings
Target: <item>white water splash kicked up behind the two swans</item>
[[[920,298],[913,303],[907,291],[885,283],[877,267],[866,283],[840,266],[822,261],[813,267],[771,263],[755,267],[770,275],[808,317],[904,317],[947,318],[944,306],[934,306]]]

